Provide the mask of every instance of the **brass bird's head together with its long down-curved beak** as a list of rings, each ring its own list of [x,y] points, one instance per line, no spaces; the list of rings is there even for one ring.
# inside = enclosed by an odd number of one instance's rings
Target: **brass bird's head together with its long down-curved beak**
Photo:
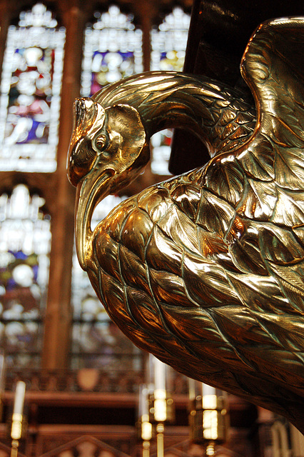
[[[148,160],[146,131],[135,108],[127,104],[103,108],[93,99],[76,99],[67,169],[69,181],[77,187],[76,249],[83,269],[96,205],[133,181]]]

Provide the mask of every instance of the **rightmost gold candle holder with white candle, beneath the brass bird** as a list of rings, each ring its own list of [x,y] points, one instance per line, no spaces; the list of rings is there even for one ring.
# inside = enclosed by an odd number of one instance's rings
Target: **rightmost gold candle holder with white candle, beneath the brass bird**
[[[214,456],[216,445],[227,439],[227,395],[217,388],[189,379],[189,399],[191,441],[203,444],[206,456]]]

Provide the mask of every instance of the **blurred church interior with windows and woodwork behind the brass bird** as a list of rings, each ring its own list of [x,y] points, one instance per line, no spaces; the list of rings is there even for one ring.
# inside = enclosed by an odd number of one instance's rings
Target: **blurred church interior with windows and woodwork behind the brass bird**
[[[192,6],[0,1],[0,457],[13,455],[20,381],[20,457],[161,456],[159,436],[144,436],[141,423],[148,366],[157,364],[111,323],[78,266],[66,154],[76,97],[141,71],[183,70]],[[96,222],[169,176],[172,135],[153,136],[145,174],[99,204]],[[165,457],[304,456],[304,437],[293,426],[231,395],[226,438],[208,454],[208,439],[216,438],[191,435],[188,379],[165,371],[175,410],[160,433]]]

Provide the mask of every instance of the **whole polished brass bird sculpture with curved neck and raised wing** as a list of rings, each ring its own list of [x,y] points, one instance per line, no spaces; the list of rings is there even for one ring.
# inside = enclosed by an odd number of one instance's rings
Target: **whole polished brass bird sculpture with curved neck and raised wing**
[[[176,370],[304,431],[303,19],[263,24],[241,71],[255,110],[223,84],[153,72],[76,101],[69,179],[81,266],[113,321]],[[123,201],[151,134],[195,131],[211,160]],[[200,152],[198,151],[198,154]]]

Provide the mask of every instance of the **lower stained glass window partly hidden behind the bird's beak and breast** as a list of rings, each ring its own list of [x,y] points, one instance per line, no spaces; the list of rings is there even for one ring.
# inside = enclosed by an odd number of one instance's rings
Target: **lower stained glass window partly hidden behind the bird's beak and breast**
[[[92,229],[123,197],[107,196],[96,207]],[[74,325],[72,333],[71,368],[99,367],[117,369],[129,366],[138,368],[140,351],[111,322],[106,310],[96,297],[88,275],[79,266],[74,253],[72,273],[72,304]]]

